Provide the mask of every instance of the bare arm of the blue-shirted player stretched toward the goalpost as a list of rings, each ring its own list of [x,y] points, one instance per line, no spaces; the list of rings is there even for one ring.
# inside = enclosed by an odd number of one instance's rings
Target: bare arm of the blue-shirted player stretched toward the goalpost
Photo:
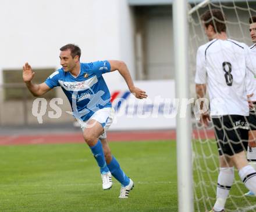
[[[144,90],[141,90],[138,87],[134,86],[133,79],[131,79],[131,75],[127,68],[127,65],[123,61],[109,60],[109,63],[111,65],[111,71],[119,71],[120,75],[122,75],[125,79],[125,82],[129,87],[130,92],[133,93],[136,98],[147,98],[147,94]]]

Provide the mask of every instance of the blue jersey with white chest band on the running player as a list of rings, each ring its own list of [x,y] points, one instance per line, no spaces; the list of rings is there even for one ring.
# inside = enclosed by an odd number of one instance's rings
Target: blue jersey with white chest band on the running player
[[[61,86],[71,104],[73,115],[88,120],[96,111],[112,107],[110,93],[102,74],[111,71],[108,61],[80,63],[80,74],[74,77],[63,68],[51,74],[45,83]]]

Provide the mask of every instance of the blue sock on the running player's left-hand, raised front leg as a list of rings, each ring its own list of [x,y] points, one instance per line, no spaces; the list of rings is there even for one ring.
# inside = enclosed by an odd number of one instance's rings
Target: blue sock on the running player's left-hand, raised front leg
[[[94,158],[97,160],[98,166],[101,170],[101,174],[107,173],[109,171],[108,166],[106,166],[106,160],[104,152],[102,149],[101,141],[98,140],[97,144],[90,147],[91,152],[93,152]]]

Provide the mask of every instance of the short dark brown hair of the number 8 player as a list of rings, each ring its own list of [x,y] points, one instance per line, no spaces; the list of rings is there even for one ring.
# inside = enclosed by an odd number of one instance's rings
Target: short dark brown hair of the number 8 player
[[[226,17],[219,9],[207,10],[207,12],[202,14],[201,20],[204,21],[204,25],[207,28],[209,25],[212,25],[215,32],[226,32]]]

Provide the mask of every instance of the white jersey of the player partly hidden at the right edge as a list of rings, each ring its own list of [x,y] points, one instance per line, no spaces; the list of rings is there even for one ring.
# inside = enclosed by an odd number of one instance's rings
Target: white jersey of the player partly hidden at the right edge
[[[256,44],[250,46],[250,54],[253,57],[252,59],[256,60]],[[251,78],[253,78],[253,81],[251,81]],[[247,75],[247,94],[253,94],[250,100],[256,101],[256,76],[251,71]]]

